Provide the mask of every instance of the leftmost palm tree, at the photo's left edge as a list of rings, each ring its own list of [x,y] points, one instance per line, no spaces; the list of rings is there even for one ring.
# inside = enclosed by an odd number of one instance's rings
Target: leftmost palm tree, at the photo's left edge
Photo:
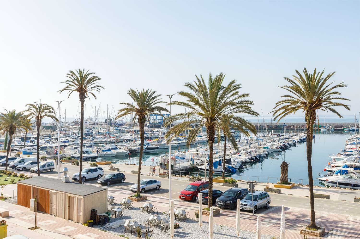
[[[8,159],[9,159],[9,152],[11,141],[13,140],[13,135],[17,129],[21,131],[23,129],[31,130],[31,128],[27,128],[24,125],[24,121],[22,118],[22,113],[15,113],[15,109],[12,111],[5,110],[6,113],[0,115],[0,131],[8,132],[9,133],[9,142],[6,151],[6,165],[5,170],[8,170]]]

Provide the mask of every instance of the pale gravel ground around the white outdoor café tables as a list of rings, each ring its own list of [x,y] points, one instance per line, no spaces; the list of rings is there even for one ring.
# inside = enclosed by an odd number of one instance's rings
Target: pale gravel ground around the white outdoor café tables
[[[114,205],[118,206],[118,205]],[[120,206],[120,205],[119,205]],[[110,206],[109,206],[110,208]],[[141,210],[139,208],[131,208],[123,210],[124,217],[121,217],[120,219],[123,220],[133,220],[138,221],[139,225],[142,229],[145,229],[144,222],[150,217],[151,214],[144,214],[141,213]],[[156,215],[156,212],[154,213]],[[165,214],[162,212],[159,212],[161,217],[164,217]],[[116,221],[117,219],[111,219],[112,222]],[[187,239],[199,239],[199,238],[208,238],[209,236],[209,223],[203,222],[203,226],[200,229],[199,224],[197,221],[189,219],[185,221],[179,221],[180,228],[174,230],[174,238],[187,238]],[[99,228],[99,226],[94,225],[94,228]],[[112,233],[114,235],[124,236],[125,238],[130,239],[136,239],[136,235],[130,234],[130,233],[123,233],[123,226],[119,226],[118,228],[114,229],[106,229],[108,233]],[[164,232],[160,232],[161,228],[159,227],[153,227],[153,234],[149,236],[149,239],[168,239],[169,233],[164,234]],[[145,238],[145,235],[143,234],[143,238]],[[236,229],[228,226],[222,226],[214,224],[214,238],[216,239],[230,239],[230,238],[237,238],[236,235]],[[256,239],[256,233],[253,233],[251,231],[242,230],[240,234],[240,238],[243,239]],[[277,239],[274,236],[268,236],[268,235],[262,235],[262,239]]]

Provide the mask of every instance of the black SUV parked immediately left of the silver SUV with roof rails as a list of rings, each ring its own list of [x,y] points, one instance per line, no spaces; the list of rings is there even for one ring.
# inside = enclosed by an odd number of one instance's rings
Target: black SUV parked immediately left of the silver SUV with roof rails
[[[238,199],[242,200],[248,193],[246,188],[230,188],[217,198],[216,206],[235,209]]]

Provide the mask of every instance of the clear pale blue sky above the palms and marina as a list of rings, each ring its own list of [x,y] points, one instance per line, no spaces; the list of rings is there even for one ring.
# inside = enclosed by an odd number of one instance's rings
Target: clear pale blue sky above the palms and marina
[[[336,71],[359,112],[359,1],[4,1],[0,2],[1,112],[59,95],[68,70],[91,69],[105,87],[87,104],[115,109],[129,88],[185,89],[195,74],[224,72],[269,113],[294,70]],[[173,99],[180,99],[176,95]],[[167,99],[166,99],[167,100]],[[105,107],[103,107],[105,110]],[[183,111],[172,108],[172,112]]]

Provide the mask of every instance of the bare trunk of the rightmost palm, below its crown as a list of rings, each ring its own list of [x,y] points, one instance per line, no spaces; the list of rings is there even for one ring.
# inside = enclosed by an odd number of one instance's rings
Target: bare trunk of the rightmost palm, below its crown
[[[307,158],[307,174],[309,177],[309,192],[310,192],[310,225],[309,228],[316,228],[315,223],[315,206],[314,206],[314,188],[312,180],[312,167],[311,167],[311,150],[312,150],[312,125],[315,121],[307,122],[306,132],[306,158]]]

